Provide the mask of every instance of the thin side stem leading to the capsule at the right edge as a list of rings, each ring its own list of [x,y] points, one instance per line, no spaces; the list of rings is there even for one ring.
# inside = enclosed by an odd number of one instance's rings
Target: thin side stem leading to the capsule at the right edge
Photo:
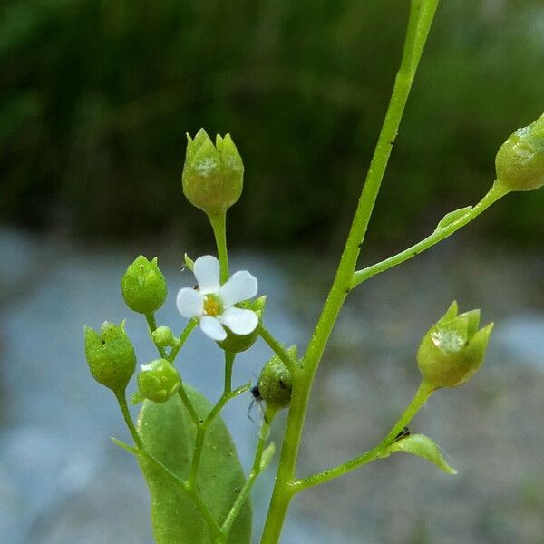
[[[404,249],[401,253],[384,259],[383,261],[372,265],[371,267],[363,268],[362,270],[357,270],[354,274],[351,287],[355,287],[360,283],[363,283],[364,280],[369,277],[373,277],[376,274],[380,274],[389,268],[396,267],[404,261],[415,257],[422,253],[425,249],[431,248],[434,244],[442,241],[444,238],[452,236],[454,232],[464,227],[471,222],[472,219],[476,219],[483,211],[488,209],[491,204],[496,202],[498,199],[507,194],[508,191],[502,189],[498,185],[493,185],[490,191],[474,206],[474,208],[467,211],[460,219],[457,219],[450,225],[445,228],[440,228],[435,230],[432,235],[424,238],[421,242],[414,244],[410,248]]]

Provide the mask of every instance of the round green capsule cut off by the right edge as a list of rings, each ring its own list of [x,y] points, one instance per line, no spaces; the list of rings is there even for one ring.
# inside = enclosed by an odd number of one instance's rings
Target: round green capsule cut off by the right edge
[[[497,184],[508,190],[539,189],[544,185],[544,115],[518,129],[495,158]]]

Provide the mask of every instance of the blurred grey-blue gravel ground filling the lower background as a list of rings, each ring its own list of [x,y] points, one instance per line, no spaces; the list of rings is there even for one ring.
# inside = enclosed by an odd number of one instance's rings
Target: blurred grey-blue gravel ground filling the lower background
[[[170,296],[160,323],[183,325],[174,306],[180,254],[158,248]],[[83,358],[83,324],[128,317],[139,361],[153,357],[119,278],[137,251],[83,248],[0,229],[0,535],[10,544],[151,544],[148,496],[112,394]],[[150,254],[151,256],[151,254]],[[369,259],[371,260],[371,259]],[[332,263],[238,253],[268,298],[267,326],[304,348]],[[414,353],[453,298],[493,320],[487,363],[470,384],[437,393],[413,423],[441,444],[455,477],[396,454],[298,496],[283,544],[544,543],[544,259],[467,250],[447,242],[358,287],[318,374],[300,472],[325,469],[378,442],[418,383]],[[182,352],[184,378],[216,398],[219,350],[197,331]],[[266,345],[239,356],[235,384],[252,379]],[[225,419],[248,467],[257,424],[249,395]],[[281,438],[282,422],[273,435]],[[256,533],[273,471],[257,482]]]

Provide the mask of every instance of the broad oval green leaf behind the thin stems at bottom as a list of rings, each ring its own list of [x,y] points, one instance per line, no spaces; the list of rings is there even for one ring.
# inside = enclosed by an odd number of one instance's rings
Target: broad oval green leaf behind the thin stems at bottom
[[[182,386],[203,420],[211,409],[209,402],[189,385]],[[180,479],[188,479],[196,427],[179,395],[166,403],[145,401],[138,419],[138,432],[148,453]],[[180,483],[173,481],[145,455],[139,455],[139,462],[151,494],[151,521],[157,544],[212,544],[214,539],[206,521]],[[217,417],[204,440],[197,489],[219,524],[244,483],[232,438],[225,423]],[[228,544],[249,544],[251,518],[248,500],[230,530]]]

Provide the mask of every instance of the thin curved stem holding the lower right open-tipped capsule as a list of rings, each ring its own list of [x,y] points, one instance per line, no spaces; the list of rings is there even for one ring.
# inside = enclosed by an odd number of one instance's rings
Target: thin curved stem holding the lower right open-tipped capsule
[[[309,487],[313,487],[320,483],[325,483],[325,481],[334,480],[347,472],[355,471],[355,469],[362,467],[364,464],[384,457],[387,448],[395,441],[399,432],[401,432],[403,428],[413,420],[413,416],[421,410],[423,404],[429,400],[429,397],[432,395],[433,391],[434,389],[432,387],[422,383],[415,393],[412,402],[408,405],[403,415],[399,418],[398,422],[394,424],[393,429],[388,432],[387,436],[382,442],[380,442],[372,450],[364,452],[362,455],[359,455],[350,461],[337,465],[331,469],[327,469],[326,471],[318,472],[313,476],[308,476],[307,478],[298,481],[296,491],[303,491]]]

